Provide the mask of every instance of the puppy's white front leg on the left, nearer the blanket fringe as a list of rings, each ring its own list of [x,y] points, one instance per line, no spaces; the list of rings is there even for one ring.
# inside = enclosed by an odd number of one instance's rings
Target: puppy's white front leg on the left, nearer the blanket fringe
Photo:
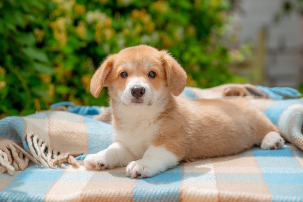
[[[84,166],[87,170],[105,170],[126,166],[136,157],[121,143],[114,142],[107,149],[86,156]]]

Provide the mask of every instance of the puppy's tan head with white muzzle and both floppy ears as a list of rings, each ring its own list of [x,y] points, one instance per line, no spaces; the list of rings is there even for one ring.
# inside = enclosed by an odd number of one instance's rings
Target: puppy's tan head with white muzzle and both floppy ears
[[[152,105],[169,92],[182,93],[186,78],[167,51],[139,45],[107,57],[91,78],[91,94],[98,97],[107,86],[110,97],[124,105]]]

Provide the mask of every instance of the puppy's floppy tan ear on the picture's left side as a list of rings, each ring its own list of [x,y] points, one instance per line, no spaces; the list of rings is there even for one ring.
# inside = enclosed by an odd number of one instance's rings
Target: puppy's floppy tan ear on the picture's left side
[[[113,67],[115,55],[110,55],[101,63],[91,78],[91,94],[97,98],[104,86],[107,86],[106,77]]]

